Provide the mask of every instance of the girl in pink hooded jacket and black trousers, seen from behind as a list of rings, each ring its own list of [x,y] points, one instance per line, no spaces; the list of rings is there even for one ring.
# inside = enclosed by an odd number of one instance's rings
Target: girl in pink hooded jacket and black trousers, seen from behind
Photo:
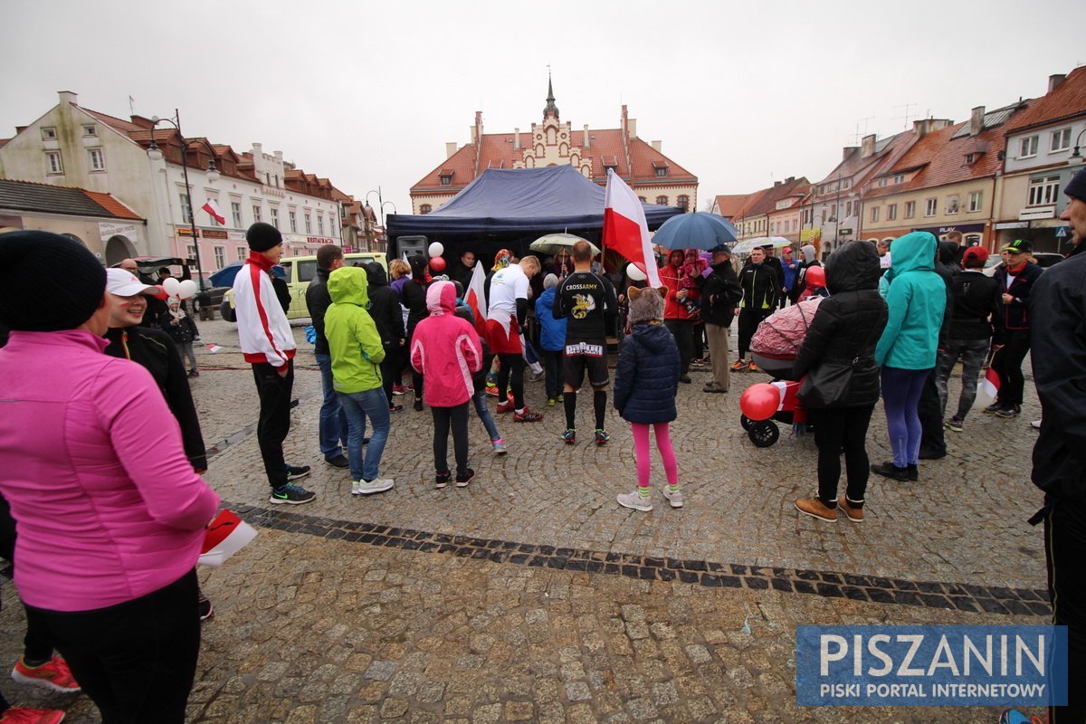
[[[468,401],[471,374],[482,368],[482,344],[475,328],[456,316],[456,288],[437,281],[426,290],[430,316],[418,322],[412,336],[411,364],[426,377],[422,392],[433,415],[433,466],[438,487],[449,485],[449,428],[453,428],[456,486],[475,480],[468,467]]]

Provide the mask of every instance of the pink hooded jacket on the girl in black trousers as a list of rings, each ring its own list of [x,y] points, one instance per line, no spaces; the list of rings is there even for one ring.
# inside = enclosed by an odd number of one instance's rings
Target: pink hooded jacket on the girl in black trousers
[[[430,284],[426,305],[430,316],[415,327],[411,364],[426,376],[427,405],[456,407],[471,397],[471,376],[482,367],[482,344],[475,327],[456,316],[456,288],[451,281]]]

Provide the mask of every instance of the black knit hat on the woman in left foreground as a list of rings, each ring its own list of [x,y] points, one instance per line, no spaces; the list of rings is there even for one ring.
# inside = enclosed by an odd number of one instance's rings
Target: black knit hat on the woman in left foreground
[[[75,329],[104,293],[105,269],[79,242],[48,231],[0,233],[0,321],[12,329]]]

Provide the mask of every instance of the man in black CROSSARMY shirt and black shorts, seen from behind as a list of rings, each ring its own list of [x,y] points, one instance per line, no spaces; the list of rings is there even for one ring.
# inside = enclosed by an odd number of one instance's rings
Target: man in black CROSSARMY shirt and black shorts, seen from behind
[[[596,416],[595,440],[605,444],[610,435],[604,429],[607,411],[607,330],[615,328],[618,301],[615,287],[605,277],[592,272],[592,246],[586,241],[573,244],[573,274],[558,288],[554,318],[566,317],[566,430],[561,439],[567,445],[577,442],[577,391],[589,371]]]

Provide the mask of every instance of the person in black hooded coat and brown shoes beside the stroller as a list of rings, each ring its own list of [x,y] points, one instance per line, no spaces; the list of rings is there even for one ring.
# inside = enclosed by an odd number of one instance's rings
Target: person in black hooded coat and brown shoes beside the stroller
[[[880,272],[874,244],[857,241],[830,255],[830,297],[819,304],[792,368],[792,379],[808,377],[799,398],[818,446],[818,497],[796,500],[796,509],[829,522],[837,520],[838,508],[851,521],[863,520],[870,472],[864,440],[879,402],[874,353],[887,316],[879,294]],[[838,499],[842,448],[848,486]]]

